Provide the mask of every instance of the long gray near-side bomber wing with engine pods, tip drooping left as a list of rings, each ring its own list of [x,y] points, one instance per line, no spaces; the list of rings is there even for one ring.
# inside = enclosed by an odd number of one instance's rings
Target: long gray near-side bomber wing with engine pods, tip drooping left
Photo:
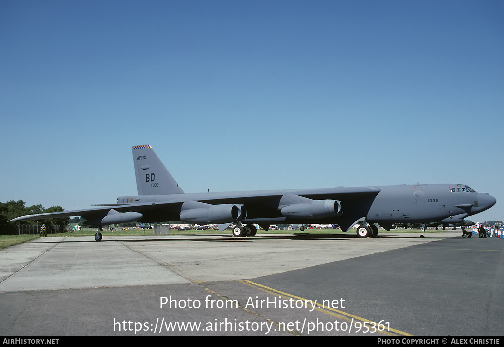
[[[310,222],[308,213],[306,218],[294,216],[289,218],[282,215],[282,207],[292,205],[305,206],[314,201],[334,199],[341,201],[345,210],[333,213],[338,215],[338,223],[350,228],[359,218],[365,216],[374,197],[380,192],[377,187],[336,187],[329,189],[306,189],[291,191],[257,191],[235,193],[202,193],[202,194],[174,194],[164,196],[164,200],[116,204],[82,210],[30,214],[10,220],[11,222],[24,220],[39,220],[47,218],[81,216],[90,225],[102,226],[116,223],[141,221],[146,223],[183,220],[198,223],[228,223],[228,217],[222,216],[226,209],[238,206],[239,213],[246,218],[236,216],[236,220],[267,225],[284,221],[302,223]],[[339,202],[338,202],[339,204]],[[227,210],[226,210],[227,211]],[[230,212],[232,213],[232,212]],[[304,213],[304,212],[302,212]],[[327,219],[334,221],[328,215]],[[350,225],[352,224],[352,225]]]

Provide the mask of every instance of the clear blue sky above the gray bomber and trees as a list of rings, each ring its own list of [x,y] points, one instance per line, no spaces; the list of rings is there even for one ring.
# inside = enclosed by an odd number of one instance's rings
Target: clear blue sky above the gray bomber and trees
[[[0,2],[0,201],[464,183],[504,219],[502,1]]]

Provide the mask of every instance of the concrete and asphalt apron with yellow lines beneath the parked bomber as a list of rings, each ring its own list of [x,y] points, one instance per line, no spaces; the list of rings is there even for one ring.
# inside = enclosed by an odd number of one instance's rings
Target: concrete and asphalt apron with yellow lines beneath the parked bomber
[[[460,235],[37,239],[0,251],[0,331],[501,335],[504,240]]]

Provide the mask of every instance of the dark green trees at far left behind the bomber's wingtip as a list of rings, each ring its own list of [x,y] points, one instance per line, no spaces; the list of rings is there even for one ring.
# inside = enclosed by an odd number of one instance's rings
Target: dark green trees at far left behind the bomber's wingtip
[[[61,206],[51,206],[49,208],[44,208],[42,205],[33,205],[33,206],[25,206],[25,202],[23,200],[14,201],[11,200],[9,202],[0,202],[0,235],[13,235],[18,233],[18,223],[8,223],[9,220],[25,215],[25,214],[39,214],[39,213],[49,213],[49,212],[60,212],[65,211]],[[45,224],[47,228],[51,225],[59,225],[58,230],[54,230],[55,232],[64,232],[65,225],[70,222],[69,217],[61,217],[61,218],[51,218],[44,219],[38,224]],[[35,225],[37,224],[36,220],[25,220],[21,222],[22,224]],[[52,223],[52,224],[51,224]]]

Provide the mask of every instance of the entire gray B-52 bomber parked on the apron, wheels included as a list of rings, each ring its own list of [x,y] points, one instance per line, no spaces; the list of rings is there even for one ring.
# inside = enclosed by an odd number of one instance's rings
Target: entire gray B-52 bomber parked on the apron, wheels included
[[[156,223],[231,224],[236,237],[255,236],[260,225],[338,224],[347,232],[358,223],[357,236],[376,237],[375,224],[390,230],[394,223],[461,223],[467,216],[495,204],[487,193],[463,184],[418,184],[327,189],[184,194],[150,145],[134,146],[138,195],[121,196],[116,204],[31,214],[10,220],[38,220],[81,216],[86,224],[104,225],[139,221]],[[100,241],[102,234],[96,233]]]

